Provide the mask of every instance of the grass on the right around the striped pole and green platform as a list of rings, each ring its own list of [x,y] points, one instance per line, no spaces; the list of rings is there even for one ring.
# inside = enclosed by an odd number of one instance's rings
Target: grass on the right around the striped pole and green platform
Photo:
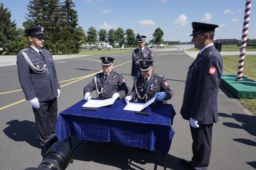
[[[238,74],[239,56],[223,56],[223,74]],[[256,81],[256,55],[245,55],[245,64],[242,75]],[[256,115],[256,98],[240,98],[240,103]]]

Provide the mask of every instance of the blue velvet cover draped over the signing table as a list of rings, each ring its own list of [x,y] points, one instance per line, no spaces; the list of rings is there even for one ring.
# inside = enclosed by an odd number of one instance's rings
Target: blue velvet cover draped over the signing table
[[[176,114],[171,104],[153,103],[143,112],[149,116],[124,111],[125,101],[114,101],[112,106],[82,111],[85,101],[60,112],[55,127],[59,140],[75,136],[95,142],[114,142],[128,147],[159,150],[166,155],[174,130],[171,125]]]

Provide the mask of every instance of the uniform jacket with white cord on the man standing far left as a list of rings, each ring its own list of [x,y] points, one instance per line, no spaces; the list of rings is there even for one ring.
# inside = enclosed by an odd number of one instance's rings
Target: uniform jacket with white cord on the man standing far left
[[[31,67],[29,67],[21,52],[26,52],[33,65],[38,69],[43,68],[43,64],[46,64],[46,72],[34,72]],[[42,52],[45,58],[32,47],[18,52],[16,62],[18,79],[26,96],[26,100],[38,98],[38,101],[48,101],[58,96],[57,89],[60,89],[60,84],[58,83],[53,57],[48,50],[42,49]]]

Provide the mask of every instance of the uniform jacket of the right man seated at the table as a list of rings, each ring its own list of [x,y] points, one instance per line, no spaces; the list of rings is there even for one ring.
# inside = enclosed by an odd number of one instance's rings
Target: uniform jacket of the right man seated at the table
[[[158,92],[164,91],[166,94],[165,100],[169,100],[173,96],[168,82],[161,74],[152,74],[147,85],[145,84],[144,77],[140,76],[134,80],[134,86],[129,95],[132,95],[132,100],[139,102],[149,101]]]

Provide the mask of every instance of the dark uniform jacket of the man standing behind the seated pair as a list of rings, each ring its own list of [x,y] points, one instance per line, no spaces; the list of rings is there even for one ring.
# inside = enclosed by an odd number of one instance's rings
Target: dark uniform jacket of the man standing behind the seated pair
[[[153,60],[153,54],[149,48],[144,48],[143,54],[139,48],[132,52],[132,77],[139,77],[141,75],[139,69],[139,61]]]

